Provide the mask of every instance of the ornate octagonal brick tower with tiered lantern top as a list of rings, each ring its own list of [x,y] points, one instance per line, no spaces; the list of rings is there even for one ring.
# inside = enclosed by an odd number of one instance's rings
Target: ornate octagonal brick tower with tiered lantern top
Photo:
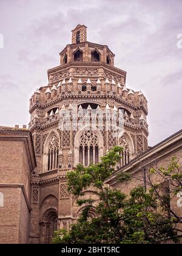
[[[114,57],[106,45],[87,41],[87,27],[78,25],[72,44],[60,53],[60,65],[48,71],[49,84],[30,98],[37,161],[30,243],[49,243],[53,230],[78,218],[81,209],[67,192],[67,171],[98,162],[115,145],[124,147],[118,168],[147,149],[147,100],[141,91],[126,88],[126,71],[115,68]],[[124,131],[117,137],[110,124],[120,126],[121,112]]]

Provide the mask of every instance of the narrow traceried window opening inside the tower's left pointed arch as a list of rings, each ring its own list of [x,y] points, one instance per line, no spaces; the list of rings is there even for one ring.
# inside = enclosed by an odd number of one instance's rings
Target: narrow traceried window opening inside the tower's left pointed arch
[[[53,135],[49,142],[49,155],[48,155],[48,171],[58,168],[58,154],[59,154],[59,141],[58,138]]]

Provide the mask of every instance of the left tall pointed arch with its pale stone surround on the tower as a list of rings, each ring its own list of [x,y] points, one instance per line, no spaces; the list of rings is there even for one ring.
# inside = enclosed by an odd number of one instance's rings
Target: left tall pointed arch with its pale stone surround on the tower
[[[58,168],[58,154],[60,148],[59,133],[52,130],[44,143],[43,170],[52,171]]]

